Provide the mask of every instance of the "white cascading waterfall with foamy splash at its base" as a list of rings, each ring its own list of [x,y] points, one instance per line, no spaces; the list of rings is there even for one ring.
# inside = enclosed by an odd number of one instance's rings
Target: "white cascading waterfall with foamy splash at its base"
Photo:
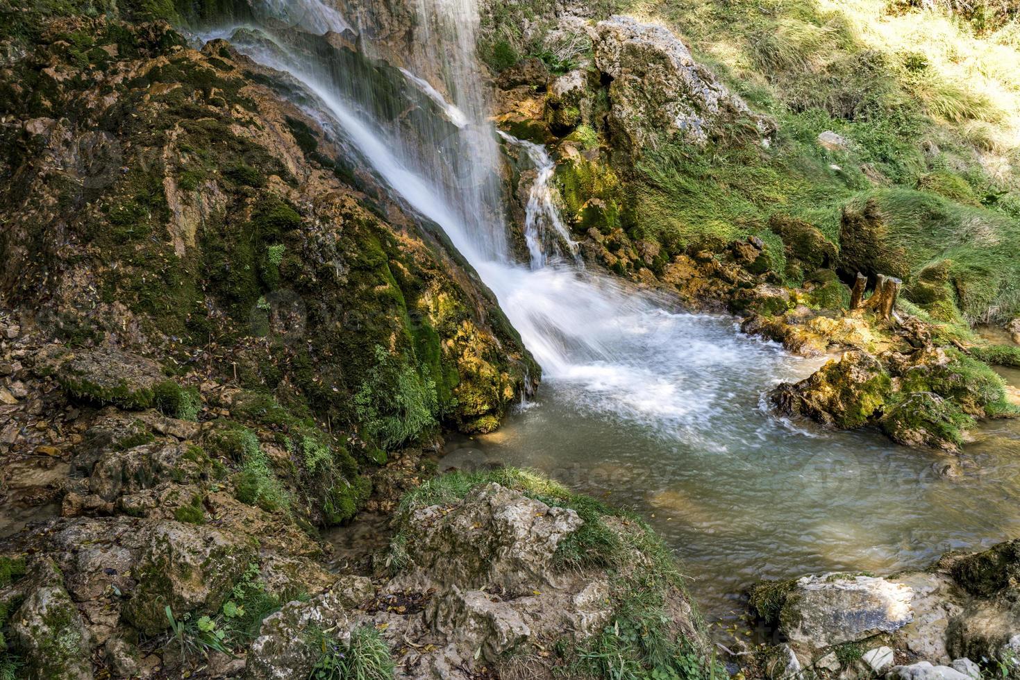
[[[204,37],[230,38],[255,61],[297,80],[308,95],[298,103],[347,140],[395,197],[444,229],[494,292],[547,379],[576,383],[597,396],[593,404],[600,410],[687,413],[690,407],[673,403],[687,397],[676,388],[677,358],[672,350],[656,348],[670,347],[677,324],[690,317],[667,311],[668,305],[652,294],[580,266],[553,198],[552,159],[544,148],[510,138],[508,143],[523,148],[538,172],[525,223],[530,262],[513,261],[499,137],[488,119],[474,55],[475,3],[417,0],[415,10],[421,34],[416,38],[424,47],[416,50],[419,62],[400,72],[415,94],[437,103],[443,118],[418,120],[415,139],[373,115],[377,103],[366,101],[364,74],[317,63],[267,25],[261,27],[265,35],[227,27]],[[444,82],[425,82],[420,74],[426,72],[442,74]],[[570,257],[563,257],[561,248]],[[608,391],[613,399],[605,399]]]

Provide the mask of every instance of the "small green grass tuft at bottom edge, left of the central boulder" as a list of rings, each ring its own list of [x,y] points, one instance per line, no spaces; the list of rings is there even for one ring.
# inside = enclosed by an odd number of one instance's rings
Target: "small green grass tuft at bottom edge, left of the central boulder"
[[[346,647],[321,630],[311,632],[310,642],[320,650],[311,680],[392,680],[394,663],[390,646],[378,631],[359,626],[351,631]]]

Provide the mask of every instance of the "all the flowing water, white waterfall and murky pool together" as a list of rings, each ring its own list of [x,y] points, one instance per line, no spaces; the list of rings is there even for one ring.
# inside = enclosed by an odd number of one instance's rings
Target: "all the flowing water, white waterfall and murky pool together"
[[[309,113],[442,226],[542,365],[537,400],[496,434],[452,442],[444,465],[534,467],[635,507],[685,562],[712,618],[727,616],[761,578],[920,567],[948,548],[1020,534],[1020,430],[989,426],[968,451],[973,466],[948,479],[934,455],[877,432],[813,431],[775,418],[761,406],[763,391],[817,362],[741,335],[728,317],[682,313],[579,266],[539,147],[524,146],[538,173],[524,225],[530,261],[515,262],[493,184],[499,139],[477,85],[474,3],[414,5],[423,47],[403,72],[449,124],[419,125],[413,140],[373,116],[335,64],[309,60],[278,36],[250,40],[220,27],[207,37],[234,37],[256,61],[297,79]],[[305,16],[301,25],[319,24]],[[439,153],[451,135],[471,153]]]

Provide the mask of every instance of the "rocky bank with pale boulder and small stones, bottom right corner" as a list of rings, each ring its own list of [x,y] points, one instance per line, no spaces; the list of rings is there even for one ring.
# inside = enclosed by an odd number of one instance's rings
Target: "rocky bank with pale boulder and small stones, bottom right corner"
[[[929,569],[878,578],[767,581],[753,614],[779,644],[748,655],[769,677],[977,680],[1017,672],[1020,540],[949,553]]]

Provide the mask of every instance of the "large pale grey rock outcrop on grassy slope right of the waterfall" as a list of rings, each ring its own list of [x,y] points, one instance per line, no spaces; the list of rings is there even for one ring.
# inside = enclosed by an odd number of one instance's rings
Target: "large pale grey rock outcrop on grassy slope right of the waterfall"
[[[595,27],[593,47],[596,66],[612,79],[611,123],[634,151],[662,130],[704,143],[718,125],[741,117],[768,128],[665,27],[613,16]]]

